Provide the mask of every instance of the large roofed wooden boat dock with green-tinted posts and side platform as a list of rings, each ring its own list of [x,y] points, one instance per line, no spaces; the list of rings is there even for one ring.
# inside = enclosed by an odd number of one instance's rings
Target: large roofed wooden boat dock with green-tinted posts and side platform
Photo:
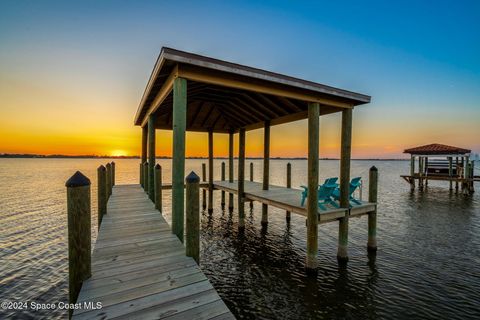
[[[311,81],[247,67],[197,54],[162,48],[135,115],[142,127],[140,182],[155,200],[156,129],[173,130],[172,145],[172,232],[183,241],[185,132],[208,133],[208,211],[213,211],[213,191],[228,192],[228,207],[237,194],[238,226],[245,227],[245,201],[262,202],[262,224],[268,223],[268,205],[285,208],[307,218],[307,270],[316,270],[318,224],[322,217],[339,221],[337,257],[347,260],[348,220],[352,215],[369,215],[369,243],[376,250],[376,195],[356,207],[349,203],[352,116],[356,106],[370,97]],[[319,117],[342,113],[340,157],[340,209],[319,212],[316,192],[310,192],[305,207],[287,197],[275,200],[275,192],[299,196],[299,190],[269,183],[270,127],[308,119],[308,189],[319,181]],[[245,181],[245,132],[264,130],[264,176],[261,183]],[[229,135],[227,181],[213,181],[214,134]],[[238,176],[234,178],[234,135],[238,134]],[[160,137],[161,139],[161,137]],[[160,188],[161,189],[161,188]],[[376,189],[376,188],[375,188]]]

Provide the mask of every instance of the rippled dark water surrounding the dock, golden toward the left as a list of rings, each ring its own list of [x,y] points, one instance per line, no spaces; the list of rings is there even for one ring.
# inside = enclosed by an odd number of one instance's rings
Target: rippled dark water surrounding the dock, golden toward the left
[[[96,168],[104,162],[0,159],[0,301],[67,300],[64,183],[75,170],[91,178],[94,240]],[[187,160],[187,171],[200,172],[202,162]],[[261,161],[253,162],[258,179]],[[138,160],[116,163],[117,183],[137,182]],[[160,163],[168,182],[170,160]],[[271,162],[272,184],[285,185],[286,163]],[[399,178],[409,171],[404,161],[353,161],[352,175],[367,178],[372,165],[380,173],[378,253],[366,252],[367,218],[351,219],[350,261],[340,266],[338,224],[321,225],[316,279],[303,269],[304,218],[293,214],[288,226],[285,212],[270,207],[262,230],[255,204],[238,234],[237,213],[223,212],[215,193],[214,213],[202,213],[201,268],[238,318],[480,319],[480,192],[457,195],[446,183],[430,183],[427,191],[411,193]],[[321,161],[320,168],[321,179],[336,176],[338,162]],[[293,186],[306,183],[306,161],[292,161],[292,171]],[[168,220],[169,197],[166,192]],[[0,310],[0,318],[64,317],[63,311]]]

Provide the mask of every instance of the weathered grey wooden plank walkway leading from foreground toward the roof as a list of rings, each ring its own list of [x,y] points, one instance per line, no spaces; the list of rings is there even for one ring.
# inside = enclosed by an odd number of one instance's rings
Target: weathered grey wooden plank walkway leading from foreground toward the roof
[[[74,319],[235,319],[139,185],[113,188]]]

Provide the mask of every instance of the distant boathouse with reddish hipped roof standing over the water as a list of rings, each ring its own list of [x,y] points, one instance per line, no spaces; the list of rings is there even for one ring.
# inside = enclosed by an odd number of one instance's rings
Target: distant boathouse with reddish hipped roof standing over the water
[[[428,144],[420,147],[406,149],[404,153],[411,155],[410,175],[402,175],[415,189],[415,180],[418,187],[428,186],[428,180],[443,180],[450,182],[450,190],[458,190],[461,184],[462,191],[473,192],[474,164],[470,161],[471,150],[448,146],[439,143]],[[415,166],[415,158],[418,166]]]

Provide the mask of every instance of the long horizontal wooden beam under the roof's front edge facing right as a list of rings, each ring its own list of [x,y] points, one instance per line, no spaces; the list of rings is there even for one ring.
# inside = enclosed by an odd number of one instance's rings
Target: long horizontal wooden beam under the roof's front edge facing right
[[[352,103],[337,101],[322,97],[320,93],[309,92],[307,90],[286,87],[275,83],[261,83],[260,81],[246,81],[229,75],[224,72],[209,70],[209,72],[202,72],[201,68],[191,65],[180,65],[178,67],[178,76],[203,83],[210,83],[218,86],[242,89],[247,91],[254,91],[260,93],[271,94],[286,98],[302,100],[306,102],[317,102],[339,108],[351,108]]]

